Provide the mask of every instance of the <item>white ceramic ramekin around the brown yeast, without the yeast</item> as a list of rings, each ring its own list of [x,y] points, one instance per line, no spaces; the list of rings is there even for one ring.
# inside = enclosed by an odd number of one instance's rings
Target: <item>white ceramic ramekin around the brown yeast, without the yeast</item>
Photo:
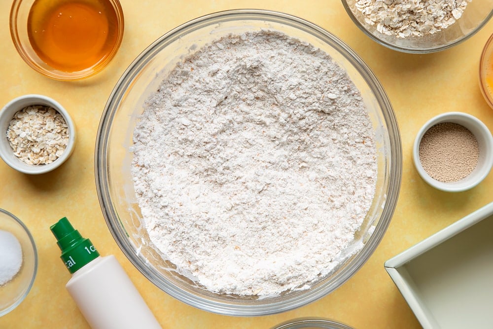
[[[433,179],[426,173],[420,161],[420,144],[424,133],[436,124],[443,122],[457,123],[476,137],[479,145],[479,160],[476,168],[465,178],[452,183],[444,183]],[[413,146],[413,160],[416,170],[429,185],[447,192],[461,192],[481,183],[493,165],[493,137],[488,127],[478,118],[463,112],[447,112],[428,120],[418,132]]]

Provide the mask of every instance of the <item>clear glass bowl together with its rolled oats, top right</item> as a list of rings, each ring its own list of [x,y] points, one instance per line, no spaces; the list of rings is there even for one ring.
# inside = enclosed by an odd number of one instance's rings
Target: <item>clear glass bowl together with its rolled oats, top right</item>
[[[352,21],[376,42],[406,53],[450,48],[478,32],[493,0],[342,0]]]

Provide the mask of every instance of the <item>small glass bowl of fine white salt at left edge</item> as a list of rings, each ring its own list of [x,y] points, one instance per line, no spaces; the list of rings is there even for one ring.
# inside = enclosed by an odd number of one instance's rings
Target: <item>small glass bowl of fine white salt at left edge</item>
[[[33,286],[37,252],[24,223],[0,209],[0,317],[16,308]]]

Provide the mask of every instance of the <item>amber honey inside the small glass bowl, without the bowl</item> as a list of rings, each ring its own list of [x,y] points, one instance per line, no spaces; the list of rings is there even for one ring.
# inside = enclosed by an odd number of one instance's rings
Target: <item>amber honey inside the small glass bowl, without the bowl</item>
[[[37,56],[53,69],[78,72],[104,61],[118,42],[109,0],[35,0],[28,37]]]

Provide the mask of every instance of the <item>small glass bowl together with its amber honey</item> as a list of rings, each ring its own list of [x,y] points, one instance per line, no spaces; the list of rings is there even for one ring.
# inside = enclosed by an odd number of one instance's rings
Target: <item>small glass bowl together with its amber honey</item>
[[[57,80],[100,72],[123,39],[118,0],[14,0],[10,35],[22,59]]]

